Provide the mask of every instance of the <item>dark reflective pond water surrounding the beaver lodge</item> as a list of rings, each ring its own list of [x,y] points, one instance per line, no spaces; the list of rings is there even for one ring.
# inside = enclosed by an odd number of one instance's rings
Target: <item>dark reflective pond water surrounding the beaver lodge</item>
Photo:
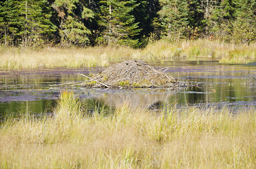
[[[147,62],[156,69],[168,67],[166,73],[180,81],[205,85],[180,90],[167,89],[88,89],[58,87],[54,84],[83,82],[78,73],[93,74],[103,68],[0,70],[0,118],[10,112],[40,114],[51,112],[62,90],[72,90],[85,101],[101,100],[109,106],[128,102],[133,106],[151,107],[155,104],[216,104],[256,106],[256,63],[219,64],[217,61],[168,61]]]

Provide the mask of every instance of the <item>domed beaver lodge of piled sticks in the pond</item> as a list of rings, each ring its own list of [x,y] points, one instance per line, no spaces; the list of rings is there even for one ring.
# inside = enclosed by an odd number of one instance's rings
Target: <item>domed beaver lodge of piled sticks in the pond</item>
[[[84,75],[84,74],[80,74]],[[129,60],[114,64],[102,72],[86,77],[84,87],[102,88],[167,88],[186,87],[188,83],[179,82],[164,71],[156,70],[141,60]]]

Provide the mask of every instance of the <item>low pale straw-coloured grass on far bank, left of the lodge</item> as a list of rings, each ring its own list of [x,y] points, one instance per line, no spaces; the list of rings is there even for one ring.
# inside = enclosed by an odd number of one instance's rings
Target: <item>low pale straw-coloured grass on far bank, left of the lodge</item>
[[[0,67],[7,69],[34,69],[56,67],[107,66],[116,57],[129,55],[132,49],[120,47],[58,48],[0,48]]]

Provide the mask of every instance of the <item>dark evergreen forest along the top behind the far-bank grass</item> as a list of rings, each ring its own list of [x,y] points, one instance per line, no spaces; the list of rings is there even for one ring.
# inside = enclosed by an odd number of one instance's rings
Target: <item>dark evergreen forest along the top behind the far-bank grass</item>
[[[256,40],[256,0],[4,0],[2,46],[145,47],[158,39]]]

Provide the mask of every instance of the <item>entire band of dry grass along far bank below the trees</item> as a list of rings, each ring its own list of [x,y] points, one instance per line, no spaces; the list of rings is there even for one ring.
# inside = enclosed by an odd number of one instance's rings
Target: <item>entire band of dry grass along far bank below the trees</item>
[[[181,49],[181,50],[180,50]],[[177,51],[179,51],[177,53]],[[45,47],[38,50],[32,48],[0,47],[0,67],[7,69],[34,69],[56,67],[93,67],[108,66],[110,61],[127,59],[188,60],[216,59],[221,63],[249,63],[256,59],[256,43],[235,45],[221,41],[198,39],[170,43],[157,41],[144,49],[128,47],[87,47],[59,48]]]

